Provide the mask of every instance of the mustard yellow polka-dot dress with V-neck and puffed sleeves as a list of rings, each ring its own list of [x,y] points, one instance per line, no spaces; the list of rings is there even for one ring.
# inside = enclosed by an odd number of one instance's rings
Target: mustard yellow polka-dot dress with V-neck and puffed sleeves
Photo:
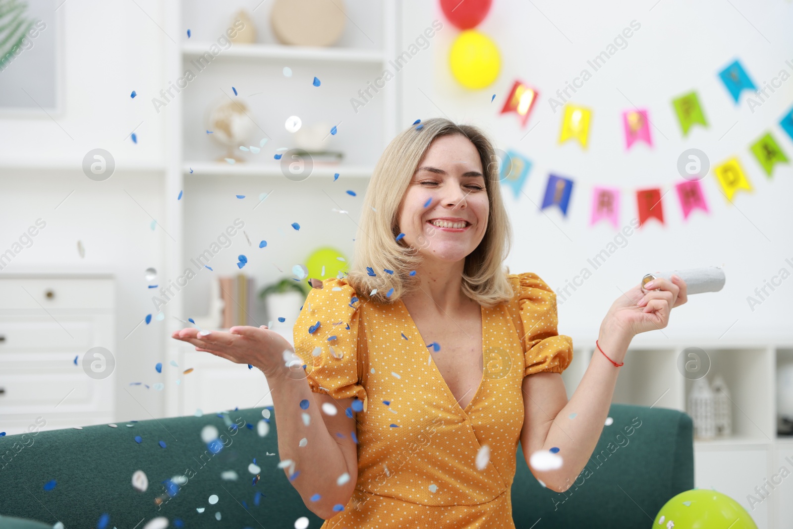
[[[402,301],[358,300],[339,278],[308,294],[293,332],[312,391],[363,403],[354,414],[358,483],[324,529],[515,527],[510,488],[523,377],[561,373],[573,340],[557,335],[556,295],[541,278],[509,280],[511,301],[482,307],[485,372],[465,409]]]

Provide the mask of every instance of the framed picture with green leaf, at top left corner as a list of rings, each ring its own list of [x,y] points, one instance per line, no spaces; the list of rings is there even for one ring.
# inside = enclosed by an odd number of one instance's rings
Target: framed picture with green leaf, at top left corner
[[[0,116],[63,111],[64,0],[0,0]]]

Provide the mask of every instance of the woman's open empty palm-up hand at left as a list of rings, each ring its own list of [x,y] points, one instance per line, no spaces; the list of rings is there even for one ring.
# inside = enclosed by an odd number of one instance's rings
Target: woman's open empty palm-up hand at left
[[[238,325],[228,329],[228,332],[202,332],[208,334],[202,335],[197,328],[188,327],[175,331],[171,338],[192,343],[196,351],[205,351],[238,364],[258,367],[268,380],[278,376],[294,378],[289,376],[291,370],[286,366],[289,358],[293,359],[290,364],[299,363],[292,345],[278,332],[270,331],[266,325]]]

